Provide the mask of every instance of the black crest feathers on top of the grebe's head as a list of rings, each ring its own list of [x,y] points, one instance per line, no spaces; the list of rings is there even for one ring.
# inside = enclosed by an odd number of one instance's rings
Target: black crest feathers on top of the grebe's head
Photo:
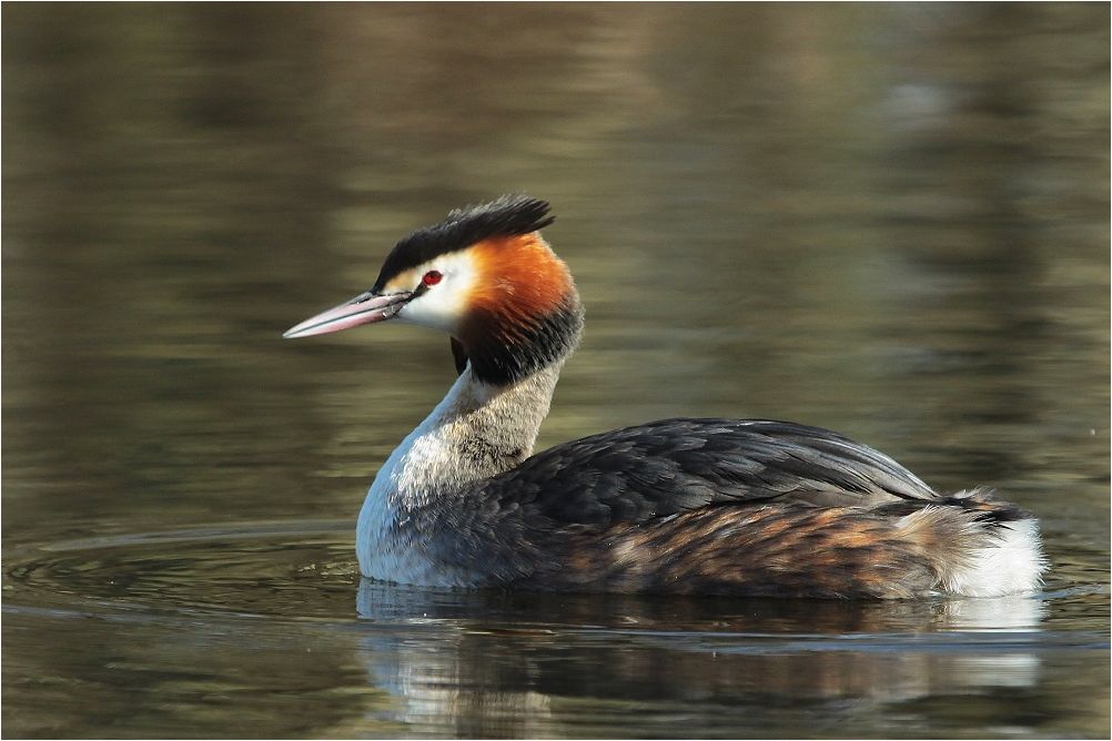
[[[547,201],[528,196],[503,196],[489,203],[456,209],[440,223],[403,238],[387,256],[371,290],[381,291],[398,273],[484,239],[516,237],[543,229],[555,220],[548,210]]]

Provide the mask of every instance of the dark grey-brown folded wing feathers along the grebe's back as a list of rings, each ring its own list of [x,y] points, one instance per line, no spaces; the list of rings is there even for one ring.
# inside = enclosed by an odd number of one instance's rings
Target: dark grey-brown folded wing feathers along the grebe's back
[[[873,507],[939,494],[887,455],[828,430],[671,419],[557,445],[468,497],[488,510],[596,530],[709,504]]]

